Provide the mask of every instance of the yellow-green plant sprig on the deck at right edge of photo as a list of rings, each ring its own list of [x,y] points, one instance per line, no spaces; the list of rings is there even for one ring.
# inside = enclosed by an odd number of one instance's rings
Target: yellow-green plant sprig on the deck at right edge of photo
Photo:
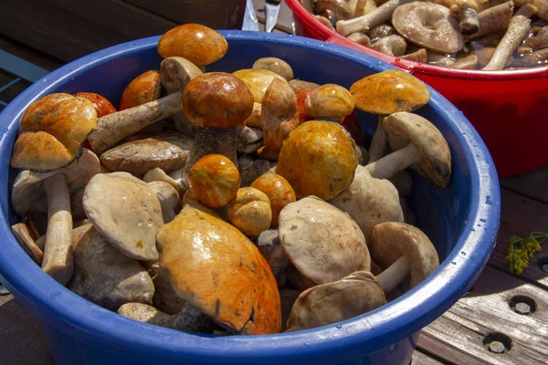
[[[508,255],[506,261],[510,271],[517,275],[522,275],[523,269],[529,267],[529,259],[541,251],[541,245],[548,240],[548,228],[543,232],[532,232],[527,237],[512,235],[508,239]]]

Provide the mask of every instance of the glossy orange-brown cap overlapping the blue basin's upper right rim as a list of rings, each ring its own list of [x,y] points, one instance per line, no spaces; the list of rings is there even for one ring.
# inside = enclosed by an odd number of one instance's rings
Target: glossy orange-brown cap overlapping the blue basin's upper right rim
[[[413,111],[430,100],[427,86],[400,69],[389,69],[367,76],[350,88],[356,108],[368,113],[386,115]]]

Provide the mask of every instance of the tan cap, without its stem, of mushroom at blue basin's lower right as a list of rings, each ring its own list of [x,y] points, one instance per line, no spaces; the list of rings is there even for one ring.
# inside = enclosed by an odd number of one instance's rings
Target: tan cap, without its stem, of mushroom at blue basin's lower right
[[[386,222],[374,226],[369,241],[371,256],[383,267],[406,255],[411,267],[410,286],[416,287],[439,266],[436,247],[420,229],[405,223]]]

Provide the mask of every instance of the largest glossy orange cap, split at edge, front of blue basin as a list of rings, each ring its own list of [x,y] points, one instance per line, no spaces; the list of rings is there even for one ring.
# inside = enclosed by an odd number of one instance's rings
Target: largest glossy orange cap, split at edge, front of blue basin
[[[156,239],[159,264],[179,297],[232,332],[279,332],[276,279],[246,235],[189,201]]]

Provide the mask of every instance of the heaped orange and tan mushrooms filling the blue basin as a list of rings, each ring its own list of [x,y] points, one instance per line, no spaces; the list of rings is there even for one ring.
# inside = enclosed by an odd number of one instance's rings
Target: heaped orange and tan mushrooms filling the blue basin
[[[362,315],[439,265],[406,203],[451,155],[414,113],[427,87],[385,71],[350,89],[277,57],[207,72],[226,39],[184,25],[121,95],[57,93],[23,114],[12,231],[91,302],[157,326],[269,334]],[[370,151],[357,110],[379,122]],[[420,221],[420,217],[418,217]]]

